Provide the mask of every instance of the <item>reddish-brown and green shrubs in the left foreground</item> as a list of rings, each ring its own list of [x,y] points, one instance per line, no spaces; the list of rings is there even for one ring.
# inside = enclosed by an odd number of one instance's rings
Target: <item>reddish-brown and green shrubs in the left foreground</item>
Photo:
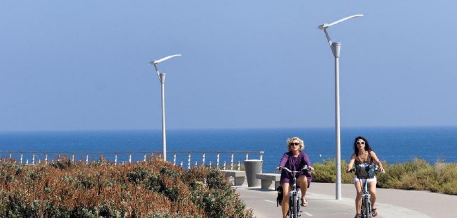
[[[219,170],[185,171],[154,158],[35,166],[2,159],[0,198],[1,218],[252,218]]]

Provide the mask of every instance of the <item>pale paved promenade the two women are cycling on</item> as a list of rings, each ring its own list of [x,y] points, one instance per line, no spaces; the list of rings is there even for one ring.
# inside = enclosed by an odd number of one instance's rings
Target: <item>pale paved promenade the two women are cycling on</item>
[[[281,206],[276,207],[277,193],[260,187],[234,187],[240,199],[252,208],[257,218],[281,218]],[[335,200],[334,183],[311,183],[306,198],[308,207],[301,207],[301,218],[353,218],[355,188],[343,184],[342,200]],[[376,218],[456,218],[457,196],[377,188]]]

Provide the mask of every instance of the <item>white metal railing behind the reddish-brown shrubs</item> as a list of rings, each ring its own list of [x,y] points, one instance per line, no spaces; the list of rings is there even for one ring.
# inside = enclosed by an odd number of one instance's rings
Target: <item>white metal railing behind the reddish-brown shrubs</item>
[[[216,164],[215,167],[226,170],[227,161],[224,161],[224,165],[220,165],[220,159],[230,159],[229,169],[233,170],[236,167],[240,169],[241,162],[248,159],[250,154],[258,154],[259,159],[263,159],[263,151],[169,151],[169,154],[173,154],[173,165],[178,165],[183,167],[184,160],[187,159],[187,169],[190,169],[192,166],[198,166],[198,160],[194,160],[194,165],[192,163],[192,157],[194,155],[201,155],[201,165],[208,165],[212,167],[212,161]],[[67,156],[71,158],[72,161],[84,161],[86,164],[89,162],[95,162],[96,158],[105,158],[106,160],[113,162],[113,164],[118,163],[132,163],[138,161],[147,161],[149,157],[152,157],[153,154],[157,154],[158,157],[161,156],[160,152],[50,152],[50,151],[0,151],[0,158],[14,158],[19,159],[19,165],[35,165],[44,161],[45,163],[53,161],[55,159],[60,160],[62,156]],[[236,156],[235,156],[236,155]],[[198,158],[197,158],[198,159]],[[29,163],[31,160],[31,163]],[[238,161],[236,163],[236,161]],[[171,161],[170,161],[171,162]],[[236,165],[235,165],[236,164]]]

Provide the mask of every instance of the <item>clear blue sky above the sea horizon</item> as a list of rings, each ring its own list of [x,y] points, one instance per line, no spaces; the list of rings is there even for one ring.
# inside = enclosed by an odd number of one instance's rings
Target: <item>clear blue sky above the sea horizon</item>
[[[0,131],[457,125],[454,1],[0,2]]]

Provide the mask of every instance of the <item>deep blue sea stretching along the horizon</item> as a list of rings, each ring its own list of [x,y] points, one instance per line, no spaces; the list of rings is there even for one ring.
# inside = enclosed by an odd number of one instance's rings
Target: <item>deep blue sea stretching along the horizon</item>
[[[203,164],[203,153],[263,151],[262,171],[273,172],[286,152],[286,140],[299,137],[305,142],[303,152],[311,162],[322,162],[335,157],[334,128],[259,128],[259,129],[170,129],[167,130],[167,161],[181,161],[184,167]],[[445,127],[343,127],[341,128],[341,159],[349,161],[353,141],[365,137],[381,161],[387,164],[403,163],[414,158],[436,162],[457,162],[457,126]],[[128,153],[158,154],[162,151],[161,130],[116,131],[42,131],[0,132],[0,158],[11,152],[19,158],[20,152],[34,151],[36,159],[43,159],[45,152],[59,153]],[[43,152],[40,154],[39,152]],[[180,152],[173,156],[174,152]],[[191,160],[186,152],[192,152]],[[142,156],[137,154],[137,156]],[[235,153],[234,162],[243,162],[244,153]],[[113,155],[105,155],[112,161]],[[51,157],[50,157],[51,158]],[[77,159],[85,159],[83,154]],[[118,160],[127,161],[127,157]],[[137,157],[141,159],[141,157]],[[230,154],[220,156],[222,165],[230,164]],[[260,159],[260,153],[249,153],[249,159]],[[122,159],[122,160],[121,160]],[[31,162],[31,157],[24,157]],[[215,153],[205,156],[205,165],[216,164]]]

